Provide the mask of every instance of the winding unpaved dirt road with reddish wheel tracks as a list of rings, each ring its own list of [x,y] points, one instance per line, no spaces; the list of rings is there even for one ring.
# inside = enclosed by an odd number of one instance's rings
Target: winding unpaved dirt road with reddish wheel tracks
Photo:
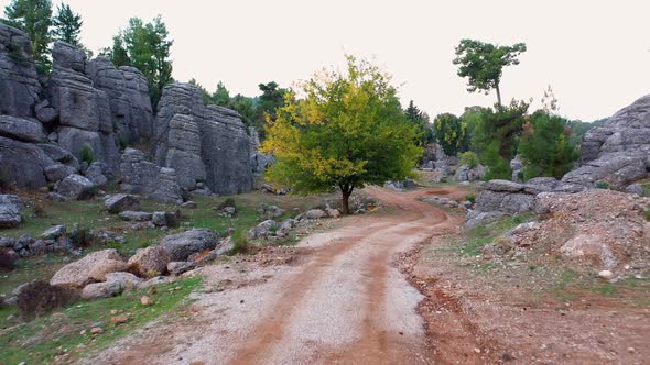
[[[150,324],[88,363],[432,363],[415,311],[422,296],[393,259],[457,224],[416,198],[457,191],[366,192],[390,212],[305,237],[286,265],[205,267],[207,292],[188,313]]]

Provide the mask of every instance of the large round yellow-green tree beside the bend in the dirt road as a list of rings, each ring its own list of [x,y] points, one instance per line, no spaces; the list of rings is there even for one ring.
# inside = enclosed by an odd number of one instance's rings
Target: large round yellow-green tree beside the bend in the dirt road
[[[342,192],[349,197],[367,184],[404,179],[422,154],[390,76],[366,60],[347,56],[347,73],[315,74],[278,110],[262,151],[278,162],[268,177],[299,193]]]

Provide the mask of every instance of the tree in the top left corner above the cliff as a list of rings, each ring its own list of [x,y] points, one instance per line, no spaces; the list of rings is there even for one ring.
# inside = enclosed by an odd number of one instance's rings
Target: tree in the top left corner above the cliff
[[[30,36],[32,56],[40,74],[47,74],[51,60],[47,45],[50,44],[50,25],[52,25],[52,2],[50,0],[12,0],[4,7],[3,22],[15,26]]]

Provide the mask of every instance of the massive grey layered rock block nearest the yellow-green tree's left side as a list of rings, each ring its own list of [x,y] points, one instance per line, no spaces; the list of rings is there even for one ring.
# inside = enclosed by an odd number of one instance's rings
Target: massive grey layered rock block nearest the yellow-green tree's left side
[[[204,106],[201,91],[192,85],[174,84],[163,90],[154,155],[160,166],[182,169],[180,184],[189,190],[204,181],[217,193],[252,189],[250,139],[241,117]]]

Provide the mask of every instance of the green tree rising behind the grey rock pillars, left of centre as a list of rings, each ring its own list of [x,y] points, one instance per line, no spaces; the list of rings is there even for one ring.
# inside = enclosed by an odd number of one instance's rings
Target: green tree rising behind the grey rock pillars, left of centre
[[[127,29],[113,37],[109,53],[112,63],[118,67],[133,66],[144,74],[153,110],[163,88],[174,81],[170,59],[173,43],[160,15],[147,24],[139,18],[131,18]]]

